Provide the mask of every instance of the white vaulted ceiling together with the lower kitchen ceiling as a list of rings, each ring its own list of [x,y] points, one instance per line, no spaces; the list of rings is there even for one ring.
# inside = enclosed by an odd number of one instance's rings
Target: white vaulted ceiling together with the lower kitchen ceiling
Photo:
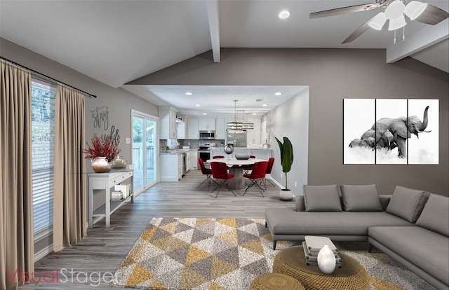
[[[380,32],[368,29],[353,42],[341,44],[354,29],[382,8],[309,19],[312,12],[373,1],[0,0],[0,36],[114,88],[121,87],[145,99],[152,99],[154,104],[172,105],[182,111],[194,110],[201,114],[201,110],[217,111],[223,107],[231,107],[233,113],[232,99],[239,98],[238,110],[253,110],[249,102],[242,108],[246,102],[243,100],[260,98],[256,96],[271,98],[270,106],[274,106],[304,90],[304,87],[282,88],[283,95],[275,99],[266,87],[234,87],[228,88],[229,95],[218,98],[222,102],[217,102],[217,98],[210,102],[217,87],[125,84],[208,50],[213,50],[214,59],[219,62],[220,47],[386,48],[387,54],[390,49],[394,50],[393,61],[410,55],[449,72],[448,19],[434,27],[408,22],[406,42],[398,41],[394,47],[393,32],[387,31],[387,25]],[[428,0],[427,3],[449,11],[448,0]],[[290,18],[278,18],[279,11],[283,9],[291,11]],[[408,47],[407,40],[413,39],[414,34],[415,39],[420,39],[420,31],[425,31],[426,35],[435,32],[438,36],[414,42],[413,47]],[[185,89],[192,92],[197,89],[195,97],[186,99]],[[225,88],[219,89],[222,95]],[[194,102],[201,102],[201,109],[192,108]]]

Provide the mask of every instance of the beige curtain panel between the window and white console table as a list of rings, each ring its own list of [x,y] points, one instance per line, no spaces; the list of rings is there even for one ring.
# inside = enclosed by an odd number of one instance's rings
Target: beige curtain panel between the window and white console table
[[[55,104],[53,250],[76,244],[87,233],[84,95],[58,83]]]

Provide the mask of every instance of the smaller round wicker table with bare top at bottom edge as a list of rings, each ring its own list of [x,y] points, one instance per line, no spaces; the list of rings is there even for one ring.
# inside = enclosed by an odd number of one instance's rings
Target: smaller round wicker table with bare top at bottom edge
[[[280,273],[268,273],[255,278],[250,290],[304,290],[297,279]]]

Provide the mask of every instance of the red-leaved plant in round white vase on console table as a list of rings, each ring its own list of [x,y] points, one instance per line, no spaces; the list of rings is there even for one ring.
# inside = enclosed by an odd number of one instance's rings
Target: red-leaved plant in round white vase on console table
[[[91,145],[86,142],[87,149],[81,150],[85,153],[86,159],[92,160],[92,169],[95,173],[107,172],[110,169],[110,162],[120,153],[120,141],[116,144],[112,141],[112,136],[109,135],[104,141],[101,141],[97,134],[93,134]]]

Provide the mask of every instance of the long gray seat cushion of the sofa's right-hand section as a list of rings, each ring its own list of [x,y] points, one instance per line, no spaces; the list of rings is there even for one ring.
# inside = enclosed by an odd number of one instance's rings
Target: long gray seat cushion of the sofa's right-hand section
[[[368,229],[368,242],[372,239],[449,284],[449,240],[444,235],[419,226],[375,226]]]

